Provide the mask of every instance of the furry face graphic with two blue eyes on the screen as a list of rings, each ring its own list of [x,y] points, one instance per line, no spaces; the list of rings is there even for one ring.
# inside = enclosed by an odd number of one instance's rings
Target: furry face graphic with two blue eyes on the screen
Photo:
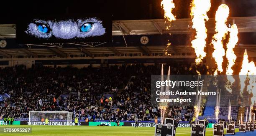
[[[73,39],[100,36],[106,33],[102,21],[97,18],[78,20],[33,20],[25,31],[36,38]]]

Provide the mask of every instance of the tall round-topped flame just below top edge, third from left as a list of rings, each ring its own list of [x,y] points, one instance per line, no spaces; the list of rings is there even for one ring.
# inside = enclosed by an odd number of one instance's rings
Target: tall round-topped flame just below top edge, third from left
[[[227,18],[229,15],[229,8],[227,5],[222,4],[219,6],[216,15],[215,15],[215,32],[216,34],[213,36],[212,45],[214,47],[214,51],[212,53],[212,57],[215,59],[217,63],[218,69],[215,71],[215,75],[217,75],[217,71],[223,72],[222,63],[223,56],[225,55],[225,50],[223,48],[223,38],[228,34],[228,27],[226,25]]]

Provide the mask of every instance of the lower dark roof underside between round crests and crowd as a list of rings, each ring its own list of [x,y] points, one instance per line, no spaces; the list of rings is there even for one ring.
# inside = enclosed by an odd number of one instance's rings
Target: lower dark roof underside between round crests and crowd
[[[60,57],[60,58],[69,58],[72,55],[87,55],[89,57],[103,57],[104,55],[111,56],[110,54],[117,56],[124,56],[121,54],[136,54],[142,53],[148,56],[151,56],[153,53],[157,55],[164,55],[164,50],[166,49],[165,45],[159,46],[128,46],[128,47],[74,47],[74,48],[16,48],[16,49],[1,49],[0,55],[5,56],[5,58],[12,58],[12,56],[33,56],[34,58],[44,57]],[[243,55],[244,50],[247,49],[248,54],[251,57],[256,57],[256,45],[238,45],[234,49],[235,53],[238,55]],[[195,57],[194,50],[190,45],[179,45],[172,46],[168,49],[169,53],[175,53],[172,58],[193,58]],[[188,56],[183,56],[182,53],[192,53]],[[103,55],[103,56],[102,56]],[[126,55],[129,56],[129,55]],[[75,57],[75,56],[74,56]]]

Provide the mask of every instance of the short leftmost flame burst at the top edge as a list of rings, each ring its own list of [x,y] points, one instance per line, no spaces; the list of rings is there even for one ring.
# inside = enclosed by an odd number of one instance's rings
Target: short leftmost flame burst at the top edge
[[[173,0],[163,0],[161,2],[161,6],[164,9],[164,18],[168,21],[176,20],[174,15],[172,14],[172,10],[175,8]]]

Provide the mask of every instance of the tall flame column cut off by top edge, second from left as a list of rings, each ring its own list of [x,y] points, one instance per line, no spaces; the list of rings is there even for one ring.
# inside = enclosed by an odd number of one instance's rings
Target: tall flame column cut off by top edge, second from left
[[[205,39],[207,38],[207,28],[205,27],[205,21],[209,20],[207,12],[211,8],[210,0],[193,0],[191,4],[191,13],[192,18],[192,28],[195,28],[196,35],[195,39],[192,40],[192,48],[195,49],[197,58],[195,60],[196,64],[202,62],[202,59],[206,56],[204,51],[206,46]]]

